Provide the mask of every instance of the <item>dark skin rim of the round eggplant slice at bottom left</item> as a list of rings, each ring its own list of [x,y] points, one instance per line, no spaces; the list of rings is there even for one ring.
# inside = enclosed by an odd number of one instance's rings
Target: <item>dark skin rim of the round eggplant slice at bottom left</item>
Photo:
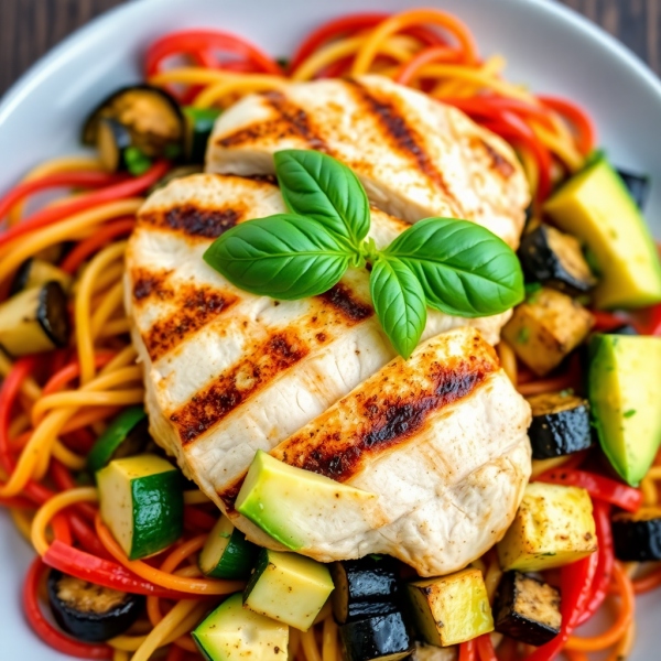
[[[47,581],[48,602],[57,624],[78,640],[101,642],[120,636],[136,622],[142,613],[144,597],[128,593],[119,606],[107,613],[79,611],[57,596],[57,584],[63,576],[62,572],[51,570]]]

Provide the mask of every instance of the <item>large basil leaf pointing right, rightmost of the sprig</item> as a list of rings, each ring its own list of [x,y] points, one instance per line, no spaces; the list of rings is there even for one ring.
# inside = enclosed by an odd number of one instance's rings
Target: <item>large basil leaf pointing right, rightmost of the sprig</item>
[[[514,251],[475,223],[421,220],[384,254],[405,263],[418,277],[430,307],[446,314],[487,316],[523,301],[523,273]]]

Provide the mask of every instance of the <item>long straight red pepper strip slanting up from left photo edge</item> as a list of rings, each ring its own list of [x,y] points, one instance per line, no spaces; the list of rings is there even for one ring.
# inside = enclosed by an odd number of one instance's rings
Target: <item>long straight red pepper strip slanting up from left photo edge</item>
[[[84,195],[67,204],[43,209],[0,235],[0,248],[17,237],[47,225],[53,225],[74,214],[85,212],[108,202],[117,202],[124,197],[132,197],[133,195],[144,193],[144,191],[153,186],[169,170],[170,163],[167,161],[159,161],[141,176],[131,177],[119,184],[112,184],[111,186],[95,191],[94,193]]]

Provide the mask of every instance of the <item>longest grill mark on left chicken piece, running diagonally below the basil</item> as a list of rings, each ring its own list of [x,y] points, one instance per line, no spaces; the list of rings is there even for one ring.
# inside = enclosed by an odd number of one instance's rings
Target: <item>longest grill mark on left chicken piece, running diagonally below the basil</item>
[[[220,422],[239,404],[310,353],[299,336],[288,330],[274,333],[206,389],[197,392],[170,415],[182,445],[187,445]]]

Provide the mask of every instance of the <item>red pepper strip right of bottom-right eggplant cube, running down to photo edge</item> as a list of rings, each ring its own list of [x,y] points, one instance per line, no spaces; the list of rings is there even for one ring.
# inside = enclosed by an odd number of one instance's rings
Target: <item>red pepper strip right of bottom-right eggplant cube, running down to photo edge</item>
[[[562,626],[560,633],[525,657],[525,661],[552,661],[562,652],[589,600],[597,562],[597,554],[593,553],[578,562],[562,567],[560,578]]]

